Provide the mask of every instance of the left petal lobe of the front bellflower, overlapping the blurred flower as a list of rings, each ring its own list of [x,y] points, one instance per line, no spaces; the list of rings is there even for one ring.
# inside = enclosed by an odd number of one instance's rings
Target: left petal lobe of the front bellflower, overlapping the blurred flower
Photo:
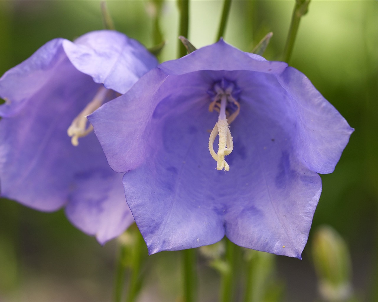
[[[99,131],[96,136],[107,155],[109,165],[116,172],[133,169],[144,160],[143,149],[149,139],[141,140],[140,137],[156,106],[153,95],[165,77],[159,69],[153,69],[150,77],[142,77],[127,97],[120,96],[88,116],[88,120],[95,127],[95,133],[96,128],[105,130]],[[151,78],[156,82],[151,83]],[[139,99],[142,94],[145,97]]]

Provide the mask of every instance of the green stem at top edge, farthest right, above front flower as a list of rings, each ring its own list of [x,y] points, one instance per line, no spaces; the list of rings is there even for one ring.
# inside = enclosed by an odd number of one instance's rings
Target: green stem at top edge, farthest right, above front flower
[[[299,22],[301,17],[307,13],[308,5],[310,0],[296,0],[293,15],[291,17],[291,24],[289,33],[287,36],[285,49],[283,50],[283,61],[289,63],[291,53],[293,52],[295,38],[297,36],[297,31],[299,28]]]

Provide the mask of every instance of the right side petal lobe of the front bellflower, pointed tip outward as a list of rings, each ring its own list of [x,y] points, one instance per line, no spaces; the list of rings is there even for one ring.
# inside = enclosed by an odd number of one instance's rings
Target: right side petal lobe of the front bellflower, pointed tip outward
[[[298,157],[317,173],[332,173],[354,129],[301,72],[290,67],[277,79],[297,112]]]

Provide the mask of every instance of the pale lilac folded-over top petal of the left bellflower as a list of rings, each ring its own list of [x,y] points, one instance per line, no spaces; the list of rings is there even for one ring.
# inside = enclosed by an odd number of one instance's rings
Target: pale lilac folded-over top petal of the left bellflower
[[[158,64],[138,41],[116,31],[89,32],[63,47],[77,70],[121,94]]]

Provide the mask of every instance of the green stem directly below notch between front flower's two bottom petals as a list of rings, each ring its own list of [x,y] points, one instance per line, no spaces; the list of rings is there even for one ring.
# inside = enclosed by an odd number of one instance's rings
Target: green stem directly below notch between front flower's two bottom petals
[[[228,264],[228,270],[222,274],[221,280],[221,301],[232,301],[234,291],[234,259],[235,259],[235,245],[230,240],[226,239],[226,254],[225,260]]]

